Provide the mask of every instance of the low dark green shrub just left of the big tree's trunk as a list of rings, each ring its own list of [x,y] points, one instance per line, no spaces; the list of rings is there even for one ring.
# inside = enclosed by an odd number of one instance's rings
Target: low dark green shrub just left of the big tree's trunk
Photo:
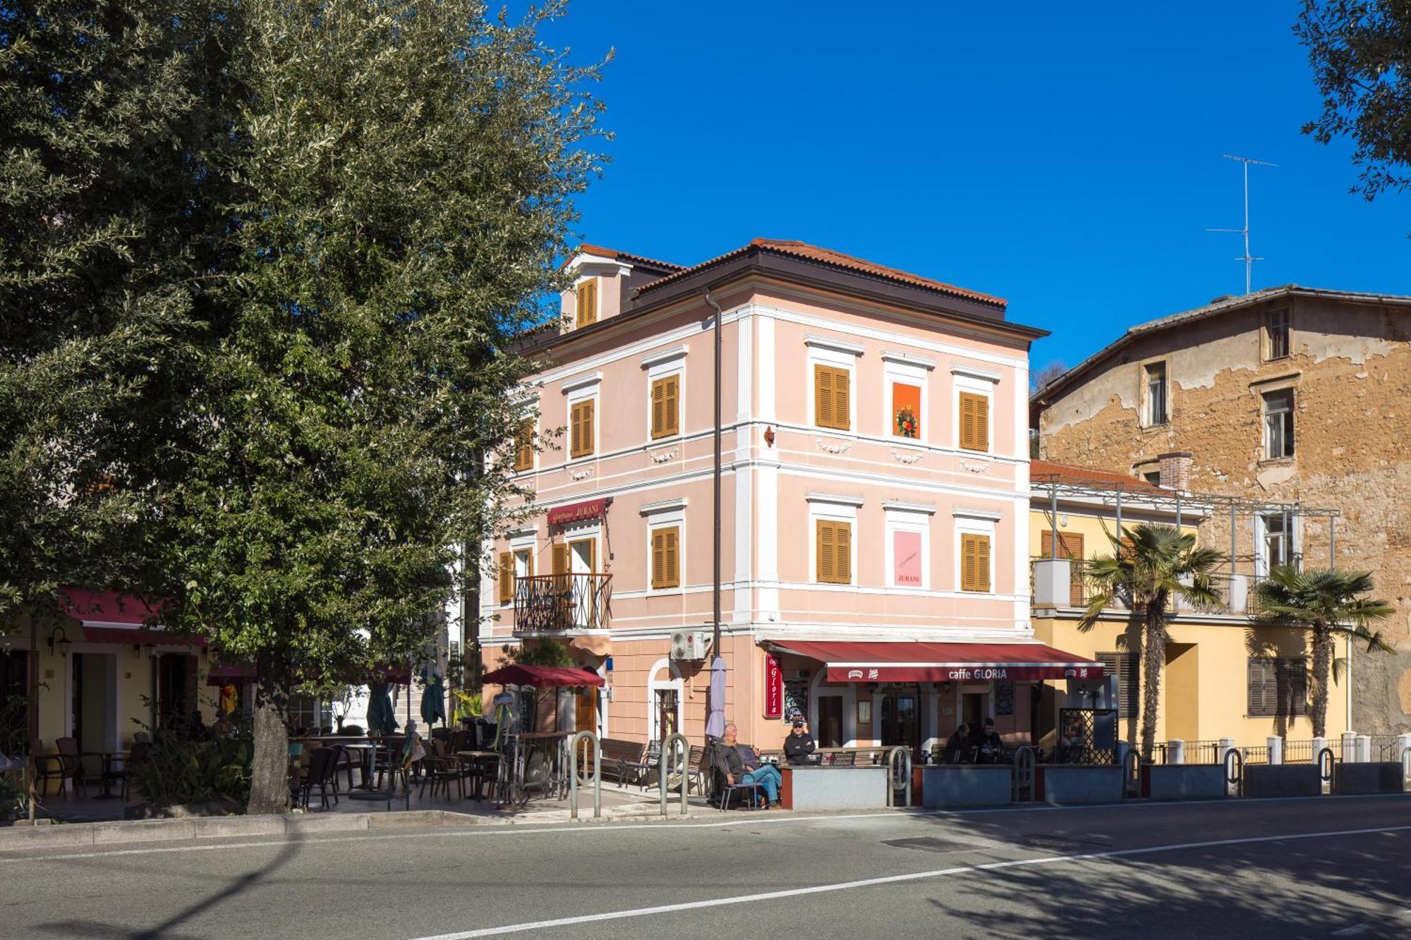
[[[133,786],[152,806],[250,800],[253,748],[244,738],[195,741],[159,734],[145,761],[133,764]]]

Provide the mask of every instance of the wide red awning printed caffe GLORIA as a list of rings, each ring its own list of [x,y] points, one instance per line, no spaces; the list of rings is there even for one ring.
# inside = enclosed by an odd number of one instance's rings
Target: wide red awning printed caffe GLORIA
[[[828,682],[1101,679],[1102,663],[1043,644],[806,642],[775,646],[828,668]]]

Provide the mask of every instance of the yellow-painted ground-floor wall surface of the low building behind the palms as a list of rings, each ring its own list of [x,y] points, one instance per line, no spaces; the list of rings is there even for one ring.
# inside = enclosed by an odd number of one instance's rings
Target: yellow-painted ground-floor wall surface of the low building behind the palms
[[[1099,621],[1086,632],[1078,629],[1077,617],[1043,617],[1034,620],[1034,635],[1064,652],[1077,656],[1096,656],[1118,651],[1118,637],[1125,632],[1123,621]],[[1249,699],[1249,645],[1245,621],[1232,620],[1228,624],[1174,622],[1167,631],[1167,669],[1161,679],[1161,709],[1157,714],[1157,741],[1181,738],[1184,741],[1213,741],[1235,738],[1237,747],[1259,747],[1270,735],[1280,734],[1280,724],[1287,721],[1285,737],[1290,741],[1312,738],[1312,720],[1308,716],[1288,718],[1249,717],[1245,714]],[[1267,645],[1271,655],[1308,655],[1307,634],[1298,629],[1257,627],[1254,639]],[[1345,656],[1339,648],[1336,655]],[[1335,738],[1348,731],[1348,683],[1333,685],[1328,694],[1326,737]],[[1048,683],[1055,687],[1061,700],[1067,692],[1065,683]],[[1173,713],[1173,704],[1175,711]],[[1140,725],[1137,725],[1140,733]],[[1127,718],[1122,721],[1122,737],[1127,734]]]

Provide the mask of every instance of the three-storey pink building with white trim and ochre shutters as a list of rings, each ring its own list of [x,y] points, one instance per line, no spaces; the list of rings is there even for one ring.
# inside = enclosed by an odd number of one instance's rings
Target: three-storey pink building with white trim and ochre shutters
[[[607,682],[579,727],[701,738],[720,311],[720,652],[742,740],[777,745],[799,707],[820,745],[923,747],[986,716],[1026,741],[1036,680],[1091,666],[1029,622],[1044,332],[800,241],[690,268],[581,246],[567,270],[528,402],[540,449],[519,453],[539,512],[491,546],[485,666],[560,639]]]

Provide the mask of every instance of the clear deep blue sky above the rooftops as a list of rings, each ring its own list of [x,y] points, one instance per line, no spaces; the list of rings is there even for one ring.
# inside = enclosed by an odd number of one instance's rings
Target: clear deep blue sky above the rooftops
[[[1070,366],[1130,323],[1254,287],[1411,294],[1411,199],[1367,203],[1318,113],[1295,3],[579,0],[612,162],[584,240],[694,263],[803,239],[1009,299]]]

